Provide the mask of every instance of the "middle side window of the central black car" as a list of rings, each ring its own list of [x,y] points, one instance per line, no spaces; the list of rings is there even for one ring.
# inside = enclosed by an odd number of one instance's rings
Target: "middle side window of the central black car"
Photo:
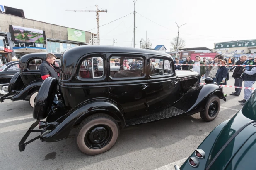
[[[117,57],[110,58],[110,76],[112,78],[142,77],[144,76],[144,62],[142,57]]]

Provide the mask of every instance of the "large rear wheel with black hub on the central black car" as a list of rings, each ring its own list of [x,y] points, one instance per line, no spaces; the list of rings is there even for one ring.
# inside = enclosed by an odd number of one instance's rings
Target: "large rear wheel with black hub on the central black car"
[[[116,120],[106,114],[95,114],[83,120],[75,133],[77,149],[87,155],[97,155],[111,149],[119,136]]]

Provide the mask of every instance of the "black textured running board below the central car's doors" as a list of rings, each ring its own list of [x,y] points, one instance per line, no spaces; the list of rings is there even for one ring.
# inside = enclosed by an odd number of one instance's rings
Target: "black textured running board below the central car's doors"
[[[178,109],[174,106],[170,106],[169,108],[164,109],[164,110],[159,111],[159,112],[154,113],[154,114],[150,114],[150,115],[147,115],[147,116],[142,116],[140,118],[127,120],[126,121],[126,126],[137,125],[137,124],[141,124],[141,123],[152,122],[152,121],[155,121],[155,120],[170,118],[170,117],[177,116],[177,115],[180,115],[180,114],[183,114],[183,113],[186,113],[186,111]]]

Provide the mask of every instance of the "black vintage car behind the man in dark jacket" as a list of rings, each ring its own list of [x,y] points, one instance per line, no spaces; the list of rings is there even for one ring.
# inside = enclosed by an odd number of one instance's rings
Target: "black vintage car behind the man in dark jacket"
[[[57,57],[55,67],[59,71],[61,54],[55,55]],[[27,100],[30,106],[34,107],[37,92],[43,83],[39,68],[45,57],[46,53],[32,53],[22,56],[19,61],[20,70],[10,80],[8,93],[2,96],[0,101],[4,102],[5,99]],[[9,97],[11,95],[12,97]]]

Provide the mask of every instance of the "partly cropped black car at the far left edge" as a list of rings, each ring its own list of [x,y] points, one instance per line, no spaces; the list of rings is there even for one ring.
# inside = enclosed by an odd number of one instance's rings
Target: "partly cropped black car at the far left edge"
[[[11,61],[0,68],[0,94],[8,93],[8,85],[15,73],[19,72],[19,61]]]

